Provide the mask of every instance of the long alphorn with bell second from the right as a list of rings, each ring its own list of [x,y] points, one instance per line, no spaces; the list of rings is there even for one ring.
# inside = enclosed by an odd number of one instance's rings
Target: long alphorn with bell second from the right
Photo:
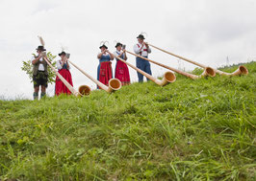
[[[128,54],[131,54],[131,55],[135,56],[135,57],[141,57],[140,55],[131,53],[131,52],[129,52],[129,51],[126,51],[126,52],[127,52]],[[205,76],[212,76],[212,75],[211,75],[211,69],[208,69],[208,68],[206,68],[206,69],[204,70],[204,72],[203,72],[203,74],[201,74],[201,76],[196,76],[196,75],[193,75],[193,74],[190,74],[190,73],[187,73],[187,72],[182,72],[182,71],[180,71],[180,70],[178,70],[178,69],[175,69],[175,68],[166,66],[166,65],[164,65],[164,64],[162,64],[162,63],[159,63],[159,62],[154,61],[154,60],[152,60],[152,59],[148,59],[148,58],[146,58],[146,57],[141,57],[141,58],[142,58],[142,59],[145,59],[145,60],[147,60],[147,61],[150,61],[150,62],[152,62],[152,63],[155,63],[155,64],[157,64],[157,65],[159,65],[159,66],[162,66],[162,67],[164,67],[164,68],[166,68],[166,69],[168,69],[168,70],[171,70],[171,71],[173,71],[173,72],[176,72],[176,73],[178,73],[178,74],[180,74],[180,75],[186,76],[186,77],[188,77],[188,78],[190,78],[190,79],[199,79],[199,78],[202,78],[202,77],[205,77]]]

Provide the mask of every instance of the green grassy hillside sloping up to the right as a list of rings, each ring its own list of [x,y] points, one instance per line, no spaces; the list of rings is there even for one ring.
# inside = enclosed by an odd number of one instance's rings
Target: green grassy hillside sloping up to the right
[[[0,101],[0,180],[254,180],[256,63],[245,66],[245,77]]]

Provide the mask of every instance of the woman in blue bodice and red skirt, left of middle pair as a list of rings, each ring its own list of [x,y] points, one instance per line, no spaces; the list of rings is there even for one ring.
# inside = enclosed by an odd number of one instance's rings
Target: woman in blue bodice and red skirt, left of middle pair
[[[102,47],[108,49],[106,45],[102,45],[99,48],[101,49]],[[99,65],[97,68],[97,79],[105,85],[109,85],[109,80],[113,78],[111,64],[111,55],[109,53],[104,53],[99,58]],[[98,88],[101,89],[100,87]]]

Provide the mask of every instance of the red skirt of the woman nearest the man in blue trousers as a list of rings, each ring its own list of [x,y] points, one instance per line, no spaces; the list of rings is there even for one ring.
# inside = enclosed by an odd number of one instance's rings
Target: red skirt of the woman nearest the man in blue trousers
[[[122,82],[122,85],[130,84],[130,74],[127,65],[122,61],[117,61],[115,66],[115,78]]]

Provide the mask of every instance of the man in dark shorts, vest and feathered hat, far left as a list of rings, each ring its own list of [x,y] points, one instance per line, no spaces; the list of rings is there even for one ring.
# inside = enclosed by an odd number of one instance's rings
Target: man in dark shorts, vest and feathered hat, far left
[[[38,46],[36,49],[37,51],[46,51],[43,46]],[[38,56],[33,56],[31,58],[31,62],[33,64],[33,61],[38,58]],[[44,86],[47,88],[48,86],[48,70],[47,70],[47,62],[43,59],[43,57],[40,57],[38,62],[33,64],[33,82],[34,82],[34,88],[37,88],[39,86]],[[45,92],[41,92],[40,98],[43,98],[45,96]],[[33,94],[34,100],[38,100],[38,92],[34,92]]]

